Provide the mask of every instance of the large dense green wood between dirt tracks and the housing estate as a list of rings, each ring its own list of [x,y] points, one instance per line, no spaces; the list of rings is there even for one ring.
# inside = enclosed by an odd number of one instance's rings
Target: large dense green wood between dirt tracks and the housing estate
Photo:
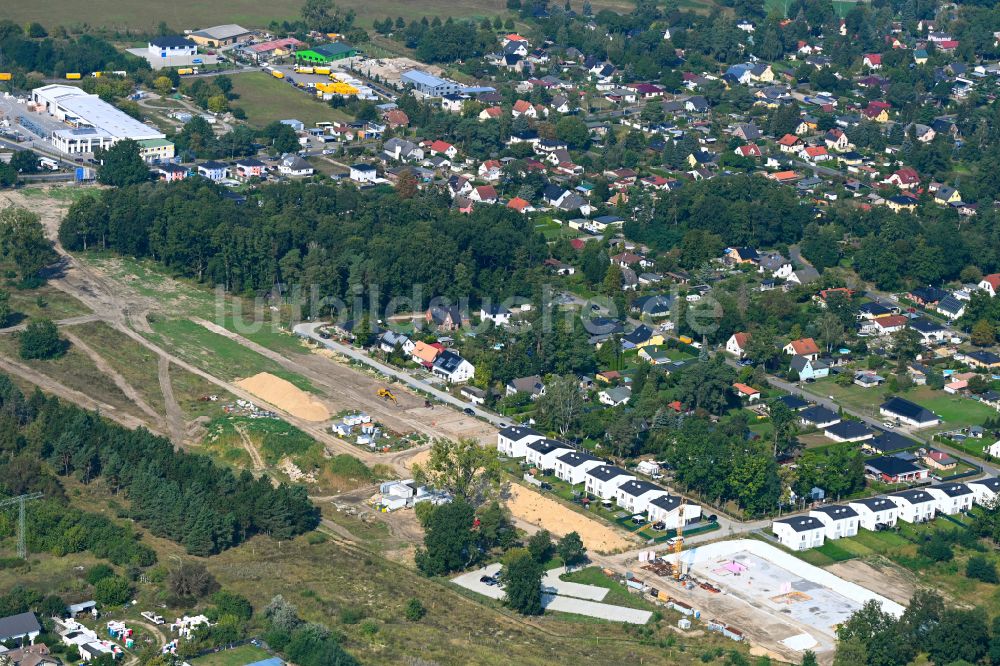
[[[531,220],[502,207],[464,216],[444,196],[305,183],[262,187],[239,204],[203,179],[105,190],[73,205],[70,250],[150,257],[234,292],[306,284],[351,302],[359,285],[385,303],[413,297],[530,296],[548,256]]]

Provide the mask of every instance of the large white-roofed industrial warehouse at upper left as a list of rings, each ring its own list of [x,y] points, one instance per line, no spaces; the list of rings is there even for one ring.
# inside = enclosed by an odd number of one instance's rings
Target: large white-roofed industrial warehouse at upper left
[[[166,135],[145,125],[123,111],[74,86],[48,85],[31,91],[31,101],[36,111],[45,111],[68,125],[65,129],[47,132],[49,139],[60,151],[68,154],[92,153],[110,148],[122,139],[149,141],[157,145],[157,157],[173,157],[173,146],[162,150]],[[143,155],[143,157],[147,157]]]

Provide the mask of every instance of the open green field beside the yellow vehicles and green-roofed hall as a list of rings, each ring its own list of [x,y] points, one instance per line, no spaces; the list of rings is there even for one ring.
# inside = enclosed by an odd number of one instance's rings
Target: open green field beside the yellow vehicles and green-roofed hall
[[[236,74],[232,79],[233,92],[240,96],[233,106],[246,111],[251,125],[263,127],[275,120],[296,118],[312,127],[319,121],[350,119],[343,111],[263,72]]]

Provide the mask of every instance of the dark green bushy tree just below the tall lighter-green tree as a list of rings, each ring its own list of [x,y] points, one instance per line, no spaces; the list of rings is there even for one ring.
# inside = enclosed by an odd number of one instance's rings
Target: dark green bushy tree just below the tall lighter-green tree
[[[465,499],[433,507],[422,521],[424,547],[417,551],[417,568],[428,576],[442,576],[471,564],[476,557],[472,531],[475,512]]]

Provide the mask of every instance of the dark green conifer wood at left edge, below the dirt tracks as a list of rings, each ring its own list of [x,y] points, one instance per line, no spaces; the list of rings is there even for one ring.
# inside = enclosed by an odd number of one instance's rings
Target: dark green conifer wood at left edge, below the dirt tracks
[[[144,429],[128,430],[38,391],[25,397],[5,376],[0,376],[0,438],[8,491],[59,492],[44,468],[35,466],[30,472],[32,460],[44,460],[58,476],[72,475],[84,484],[101,479],[109,491],[128,499],[129,517],[153,534],[183,544],[192,555],[218,553],[255,534],[289,539],[319,521],[301,486],[274,487],[266,476],[254,479],[249,472],[237,476],[204,456],[174,451],[169,441]],[[12,478],[8,474],[14,470],[30,474]],[[151,553],[127,550],[128,535],[115,535],[125,552],[107,550],[110,544],[99,552],[102,546],[91,543],[92,537],[115,529],[94,522],[104,519],[72,511],[41,513],[43,526],[64,525],[40,532],[40,545],[48,550],[86,548],[116,562],[152,563]],[[79,539],[75,546],[59,536],[69,528]],[[83,532],[88,529],[99,531],[87,536]]]

